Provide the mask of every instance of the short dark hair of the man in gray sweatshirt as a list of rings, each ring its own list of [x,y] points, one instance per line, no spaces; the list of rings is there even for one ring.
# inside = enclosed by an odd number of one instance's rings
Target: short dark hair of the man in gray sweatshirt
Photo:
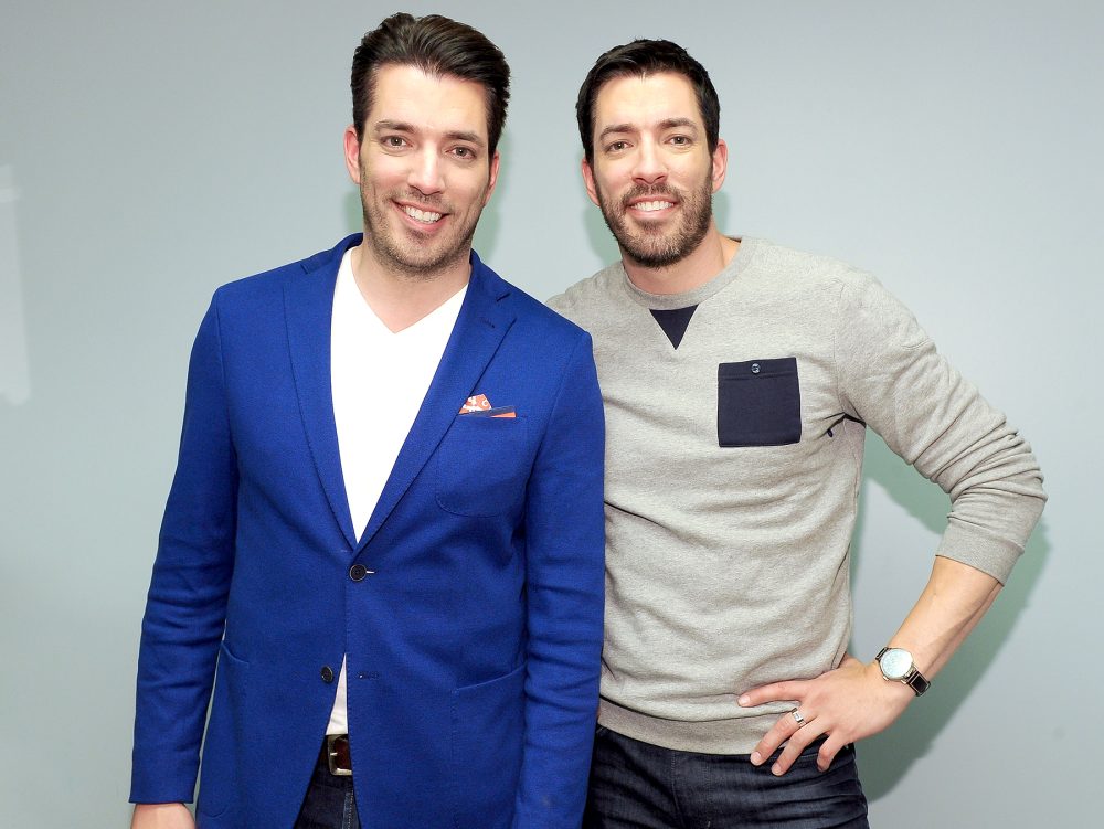
[[[583,140],[587,163],[594,161],[594,102],[602,86],[616,77],[646,77],[660,72],[682,75],[693,86],[701,119],[705,124],[709,152],[713,153],[721,128],[721,102],[716,98],[716,89],[713,88],[713,82],[709,79],[705,67],[678,43],[641,39],[623,46],[614,46],[598,57],[578,89],[575,117],[578,119],[578,137]]]

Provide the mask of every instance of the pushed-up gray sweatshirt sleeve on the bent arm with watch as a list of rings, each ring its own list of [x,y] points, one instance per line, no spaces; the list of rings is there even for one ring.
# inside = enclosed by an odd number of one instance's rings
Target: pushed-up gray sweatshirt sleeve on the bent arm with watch
[[[836,363],[845,413],[951,496],[936,554],[1004,583],[1047,499],[1027,440],[867,275],[841,288]]]

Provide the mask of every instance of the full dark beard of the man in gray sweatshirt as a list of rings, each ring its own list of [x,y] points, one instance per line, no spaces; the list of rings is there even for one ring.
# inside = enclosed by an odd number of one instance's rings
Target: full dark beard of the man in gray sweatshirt
[[[614,234],[622,252],[634,262],[650,268],[669,267],[689,256],[705,238],[710,223],[713,220],[713,180],[707,174],[701,187],[691,192],[683,192],[669,184],[638,184],[631,188],[617,205],[598,189],[598,203],[602,217],[609,232]],[[643,232],[634,234],[628,228],[625,212],[628,202],[640,198],[673,196],[682,208],[682,219],[673,231],[666,233]]]

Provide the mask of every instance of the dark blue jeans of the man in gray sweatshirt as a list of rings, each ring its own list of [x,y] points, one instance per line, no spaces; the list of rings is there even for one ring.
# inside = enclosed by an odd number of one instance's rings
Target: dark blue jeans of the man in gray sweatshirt
[[[583,829],[867,829],[854,748],[817,769],[820,741],[782,777],[775,757],[661,748],[598,726]],[[781,751],[781,750],[779,750]]]

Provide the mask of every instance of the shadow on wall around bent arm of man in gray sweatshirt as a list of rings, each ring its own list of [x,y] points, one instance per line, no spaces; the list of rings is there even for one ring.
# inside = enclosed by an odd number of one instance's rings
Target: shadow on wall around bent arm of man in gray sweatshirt
[[[943,533],[948,510],[943,490],[916,474],[880,439],[867,442],[863,471],[863,489],[866,480],[875,481],[926,528],[936,534]],[[864,520],[864,500],[860,499],[856,538]],[[1049,556],[1050,544],[1043,519],[1008,584],[978,627],[940,672],[938,680],[924,695],[924,704],[910,705],[893,725],[863,741],[859,748],[859,767],[862,788],[870,801],[892,791],[912,764],[931,751],[938,734],[1011,636]],[[861,557],[862,552],[854,550],[852,568]]]

